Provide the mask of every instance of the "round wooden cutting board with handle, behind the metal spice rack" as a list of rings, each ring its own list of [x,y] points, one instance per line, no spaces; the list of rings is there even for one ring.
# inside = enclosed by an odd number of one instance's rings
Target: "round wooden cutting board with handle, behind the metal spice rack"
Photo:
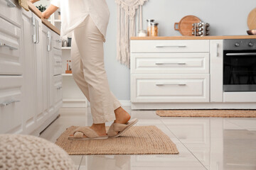
[[[181,35],[194,36],[192,35],[192,24],[199,22],[201,20],[196,16],[184,16],[179,23],[174,23],[174,30],[179,30]]]

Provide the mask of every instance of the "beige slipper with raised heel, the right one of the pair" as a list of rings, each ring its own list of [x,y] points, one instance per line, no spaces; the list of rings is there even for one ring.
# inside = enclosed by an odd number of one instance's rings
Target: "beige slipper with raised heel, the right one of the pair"
[[[109,138],[119,137],[125,131],[127,131],[129,128],[131,128],[133,125],[135,125],[137,122],[138,122],[138,119],[135,118],[126,124],[112,123],[112,125],[110,126],[110,129],[107,131],[107,135]]]

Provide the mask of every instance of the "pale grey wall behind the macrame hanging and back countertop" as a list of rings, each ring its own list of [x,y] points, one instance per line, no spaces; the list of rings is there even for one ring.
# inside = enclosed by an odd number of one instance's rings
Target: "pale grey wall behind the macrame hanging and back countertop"
[[[114,0],[106,1],[111,13],[105,43],[110,89],[119,100],[130,100],[129,69],[116,60],[117,6]],[[159,35],[181,35],[174,30],[174,23],[194,15],[210,23],[210,35],[245,35],[247,15],[255,7],[255,0],[149,0],[143,7],[144,29],[146,18],[154,18],[159,22]]]

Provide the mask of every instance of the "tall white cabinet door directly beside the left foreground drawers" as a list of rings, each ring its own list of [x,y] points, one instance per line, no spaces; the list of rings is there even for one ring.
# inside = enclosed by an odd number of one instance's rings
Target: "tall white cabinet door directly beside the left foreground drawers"
[[[23,124],[26,133],[36,128],[36,80],[35,80],[35,57],[33,42],[33,23],[31,11],[22,13],[22,37],[24,56],[24,94],[25,107],[23,111]]]

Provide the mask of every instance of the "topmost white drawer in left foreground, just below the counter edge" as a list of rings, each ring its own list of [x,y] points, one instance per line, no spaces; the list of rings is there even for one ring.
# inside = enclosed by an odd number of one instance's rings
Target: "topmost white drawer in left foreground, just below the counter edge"
[[[0,0],[0,16],[6,21],[21,26],[21,8],[18,5],[18,1],[8,1],[11,3],[8,3],[6,0]]]

